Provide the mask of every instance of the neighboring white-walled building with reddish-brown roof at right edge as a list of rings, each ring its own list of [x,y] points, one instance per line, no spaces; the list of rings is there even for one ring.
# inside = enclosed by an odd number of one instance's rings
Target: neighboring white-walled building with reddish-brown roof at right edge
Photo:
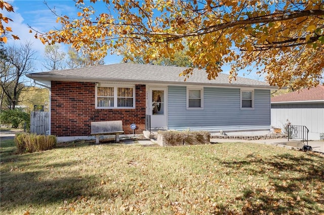
[[[324,86],[272,97],[271,125],[283,129],[287,120],[292,125],[306,126],[308,139],[319,140],[320,133],[324,133]]]

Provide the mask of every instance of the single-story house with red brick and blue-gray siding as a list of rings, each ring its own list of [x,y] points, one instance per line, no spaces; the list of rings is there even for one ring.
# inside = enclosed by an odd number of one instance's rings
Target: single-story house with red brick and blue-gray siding
[[[30,73],[51,89],[50,133],[89,136],[91,122],[122,120],[126,134],[151,128],[211,132],[270,131],[269,84],[228,75],[208,80],[205,70],[121,63],[80,69]]]

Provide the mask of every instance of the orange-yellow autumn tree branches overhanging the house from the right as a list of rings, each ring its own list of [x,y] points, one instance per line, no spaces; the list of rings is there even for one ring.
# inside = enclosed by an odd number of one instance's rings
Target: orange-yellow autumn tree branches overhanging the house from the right
[[[60,30],[35,35],[102,58],[127,46],[145,62],[185,50],[192,66],[217,77],[230,65],[253,69],[279,87],[311,87],[323,79],[322,1],[103,1],[76,2],[76,17],[58,16]],[[95,7],[106,7],[98,13]],[[143,52],[143,50],[145,50]],[[132,55],[129,55],[132,56]],[[183,75],[190,76],[192,69]]]

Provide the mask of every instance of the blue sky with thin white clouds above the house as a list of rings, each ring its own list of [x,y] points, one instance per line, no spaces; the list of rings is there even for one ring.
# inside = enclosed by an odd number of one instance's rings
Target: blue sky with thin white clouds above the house
[[[60,25],[56,23],[57,17],[50,11],[50,9],[44,4],[43,0],[15,0],[8,1],[15,10],[15,13],[7,13],[4,11],[5,16],[13,19],[13,22],[9,23],[9,26],[12,27],[13,33],[20,37],[20,40],[9,39],[8,44],[19,44],[21,42],[30,41],[33,43],[33,48],[37,51],[37,65],[35,66],[34,72],[46,71],[46,69],[42,66],[43,57],[44,56],[44,48],[45,45],[43,43],[34,38],[34,33],[29,33],[28,25],[32,28],[36,29],[39,32],[46,32],[51,29],[60,28]],[[50,8],[54,9],[59,15],[67,15],[70,18],[76,17],[77,8],[75,7],[75,3],[72,0],[66,1],[52,1],[47,0],[47,3]],[[102,4],[102,5],[100,5]],[[99,6],[99,7],[98,7]],[[102,2],[96,3],[94,5],[95,9],[104,11],[105,7]],[[68,46],[62,44],[62,50],[67,51]],[[107,55],[105,58],[105,64],[116,64],[122,61],[123,57],[116,55]],[[224,67],[223,73],[228,73],[229,68]],[[243,76],[245,72],[241,71],[238,73],[238,76]],[[262,77],[259,77],[255,73],[245,74],[244,77],[263,80]]]

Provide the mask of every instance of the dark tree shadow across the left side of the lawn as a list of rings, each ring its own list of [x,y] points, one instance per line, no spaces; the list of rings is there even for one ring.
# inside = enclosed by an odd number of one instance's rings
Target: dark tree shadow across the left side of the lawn
[[[92,176],[80,176],[71,171],[68,176],[58,177],[55,170],[59,167],[68,167],[72,163],[51,164],[42,171],[25,171],[23,167],[13,168],[1,175],[1,208],[35,207],[47,204],[75,202],[86,196],[98,197],[98,179]],[[36,168],[34,168],[36,169]],[[53,169],[54,171],[52,171]],[[72,176],[72,177],[71,177]],[[114,198],[115,193],[105,192],[105,196]],[[63,211],[62,211],[63,212]]]

